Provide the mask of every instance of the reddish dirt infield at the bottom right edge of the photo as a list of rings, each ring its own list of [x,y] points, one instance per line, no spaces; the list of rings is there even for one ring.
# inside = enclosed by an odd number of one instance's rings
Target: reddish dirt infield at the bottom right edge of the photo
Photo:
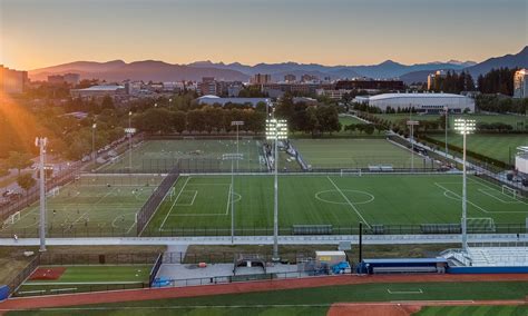
[[[517,306],[526,304],[525,300],[471,300],[471,302],[409,302],[409,303],[339,303],[333,304],[326,316],[408,316],[420,312],[424,306],[482,306],[482,305],[509,305]]]

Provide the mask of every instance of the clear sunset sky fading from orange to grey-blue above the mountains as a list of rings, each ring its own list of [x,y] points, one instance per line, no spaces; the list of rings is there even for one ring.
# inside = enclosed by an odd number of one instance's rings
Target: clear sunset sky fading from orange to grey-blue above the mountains
[[[528,43],[528,0],[0,0],[0,65],[77,60],[374,65]]]

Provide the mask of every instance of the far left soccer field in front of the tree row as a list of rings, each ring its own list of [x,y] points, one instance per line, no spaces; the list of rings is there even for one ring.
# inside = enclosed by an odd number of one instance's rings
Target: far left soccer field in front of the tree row
[[[266,170],[263,164],[261,141],[239,139],[238,151],[244,159],[238,167],[246,170]],[[222,160],[222,155],[236,152],[236,140],[228,139],[180,139],[146,140],[131,151],[131,169],[138,172],[168,171],[179,161],[180,169],[227,170],[231,161]],[[130,151],[99,169],[99,172],[129,170]]]

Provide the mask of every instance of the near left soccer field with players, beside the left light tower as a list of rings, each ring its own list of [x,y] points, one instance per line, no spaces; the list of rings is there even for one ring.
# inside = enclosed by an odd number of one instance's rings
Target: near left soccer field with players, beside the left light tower
[[[48,192],[48,236],[131,236],[136,213],[157,188],[159,175],[82,175]],[[2,237],[38,236],[39,203],[3,223]]]

